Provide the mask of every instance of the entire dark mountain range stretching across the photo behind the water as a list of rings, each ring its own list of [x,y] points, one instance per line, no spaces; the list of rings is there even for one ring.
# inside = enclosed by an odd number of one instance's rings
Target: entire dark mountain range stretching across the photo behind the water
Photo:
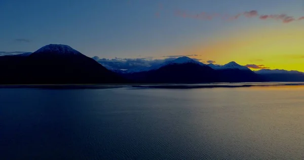
[[[69,46],[52,44],[33,53],[0,56],[0,67],[0,84],[304,82],[304,73],[298,71],[252,71],[234,61],[204,64],[189,57],[156,66],[110,69]]]

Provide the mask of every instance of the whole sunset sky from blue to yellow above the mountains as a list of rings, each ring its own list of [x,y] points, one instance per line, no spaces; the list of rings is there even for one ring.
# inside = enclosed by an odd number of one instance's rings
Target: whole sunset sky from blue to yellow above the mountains
[[[0,52],[64,44],[93,57],[304,71],[304,0],[2,0]]]

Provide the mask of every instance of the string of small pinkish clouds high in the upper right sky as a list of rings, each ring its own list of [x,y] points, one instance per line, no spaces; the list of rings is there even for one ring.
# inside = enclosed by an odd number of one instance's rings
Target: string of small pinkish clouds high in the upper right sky
[[[202,12],[200,14],[189,14],[186,11],[182,11],[182,10],[177,10],[175,12],[175,15],[178,17],[182,17],[182,18],[191,18],[191,19],[197,19],[197,20],[212,20],[216,17],[221,17],[222,20],[237,20],[239,19],[241,16],[245,17],[245,18],[254,18],[254,17],[259,17],[260,20],[270,20],[270,19],[275,19],[275,20],[279,20],[283,23],[290,23],[296,20],[304,20],[304,16],[299,17],[299,18],[295,18],[293,16],[289,16],[286,14],[275,14],[275,15],[259,15],[259,13],[256,10],[252,10],[252,11],[246,11],[243,13],[239,13],[233,16],[229,16],[227,14],[218,14],[218,13],[213,13],[213,14],[209,14],[206,12]]]

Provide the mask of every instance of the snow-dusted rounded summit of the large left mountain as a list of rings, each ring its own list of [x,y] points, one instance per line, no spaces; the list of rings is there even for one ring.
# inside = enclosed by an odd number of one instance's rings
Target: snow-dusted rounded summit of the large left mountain
[[[44,46],[34,53],[50,53],[50,52],[63,54],[63,55],[82,55],[80,52],[74,50],[73,48],[67,45],[54,45],[54,44]]]

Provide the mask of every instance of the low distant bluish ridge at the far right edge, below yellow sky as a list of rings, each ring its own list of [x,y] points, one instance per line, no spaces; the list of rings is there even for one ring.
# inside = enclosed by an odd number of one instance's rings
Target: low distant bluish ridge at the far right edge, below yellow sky
[[[255,72],[269,82],[304,82],[304,73],[296,70],[261,69]]]

